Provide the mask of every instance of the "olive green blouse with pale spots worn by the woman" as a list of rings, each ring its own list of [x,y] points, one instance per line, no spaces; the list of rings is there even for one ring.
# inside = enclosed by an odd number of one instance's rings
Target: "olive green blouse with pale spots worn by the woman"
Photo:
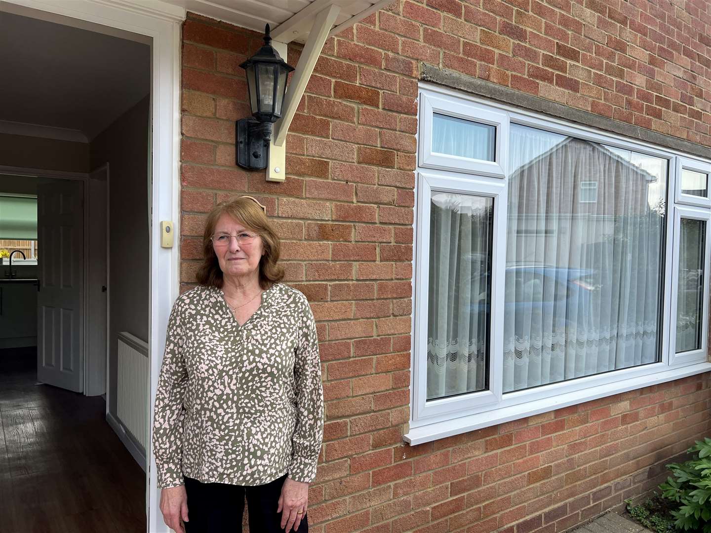
[[[156,392],[159,488],[316,477],[324,435],[316,323],[306,297],[274,284],[240,326],[220,289],[178,297]]]

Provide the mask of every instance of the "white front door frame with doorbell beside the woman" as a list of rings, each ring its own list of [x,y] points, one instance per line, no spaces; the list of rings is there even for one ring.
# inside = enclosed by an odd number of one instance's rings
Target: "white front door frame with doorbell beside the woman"
[[[178,244],[161,248],[160,221],[172,220],[180,235],[180,47],[185,9],[160,0],[4,0],[9,4],[68,16],[151,38],[151,239],[149,357],[153,413],[158,375],[166,343],[166,327],[180,284]],[[28,14],[32,16],[31,14]],[[83,26],[86,28],[86,26]],[[87,28],[89,29],[89,28]],[[151,416],[147,417],[148,428]],[[147,432],[151,435],[151,431]],[[168,527],[159,510],[156,465],[149,441],[146,471],[147,532],[164,533]]]

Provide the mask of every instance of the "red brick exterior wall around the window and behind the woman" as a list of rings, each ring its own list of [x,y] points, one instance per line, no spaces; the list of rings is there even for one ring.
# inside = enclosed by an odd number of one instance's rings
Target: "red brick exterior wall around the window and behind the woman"
[[[709,375],[433,443],[409,415],[419,61],[711,146],[711,11],[647,0],[399,0],[327,41],[287,138],[287,181],[235,167],[237,65],[261,36],[183,28],[181,281],[205,212],[249,192],[319,321],[324,451],[311,531],[560,532],[621,505],[711,432]],[[301,47],[289,46],[296,64]]]

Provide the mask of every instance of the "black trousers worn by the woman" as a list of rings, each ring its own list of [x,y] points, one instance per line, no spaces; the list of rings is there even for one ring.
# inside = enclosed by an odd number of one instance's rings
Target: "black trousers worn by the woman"
[[[245,494],[249,511],[250,533],[284,533],[282,513],[277,513],[279,496],[287,475],[266,485],[229,485],[227,483],[201,483],[185,477],[188,495],[188,522],[186,533],[242,533],[242,515],[245,512]],[[308,533],[306,514],[301,519],[297,533]]]

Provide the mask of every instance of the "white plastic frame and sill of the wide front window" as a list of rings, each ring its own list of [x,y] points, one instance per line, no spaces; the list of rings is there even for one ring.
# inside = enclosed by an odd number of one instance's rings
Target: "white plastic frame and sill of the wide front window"
[[[415,235],[417,235],[417,239],[415,242],[415,254],[413,258],[415,280],[413,282],[414,302],[412,313],[412,372],[410,383],[412,409],[410,409],[411,415],[409,429],[404,436],[405,441],[412,445],[434,441],[438,438],[461,434],[466,431],[473,431],[486,426],[520,419],[525,416],[532,416],[545,411],[560,409],[562,407],[606,397],[611,394],[619,394],[621,392],[641,387],[648,387],[653,384],[668,382],[673,379],[680,379],[682,377],[696,375],[711,370],[711,363],[707,362],[707,359],[704,357],[706,354],[705,349],[708,345],[706,330],[703,340],[704,349],[697,350],[697,352],[695,352],[695,355],[697,356],[695,362],[693,360],[680,360],[677,355],[671,353],[674,351],[675,347],[675,343],[673,342],[675,337],[673,337],[674,333],[672,330],[675,328],[676,323],[675,319],[672,320],[672,317],[675,317],[675,314],[672,314],[672,311],[675,313],[677,290],[675,284],[675,280],[677,278],[674,273],[675,269],[678,269],[678,266],[675,265],[678,263],[678,257],[676,261],[673,260],[675,250],[678,249],[678,233],[676,233],[676,230],[679,224],[675,223],[675,217],[677,210],[680,209],[673,204],[674,200],[677,200],[677,202],[679,201],[677,190],[680,179],[678,179],[678,177],[680,176],[680,169],[682,168],[682,164],[679,161],[683,159],[685,161],[685,163],[683,163],[683,168],[692,168],[693,170],[699,168],[699,165],[711,165],[711,163],[697,161],[676,151],[663,149],[641,141],[628,140],[621,136],[611,135],[604,131],[585,128],[574,124],[567,124],[558,119],[543,117],[542,115],[534,112],[521,111],[520,109],[501,104],[492,104],[491,102],[486,102],[483,99],[462,95],[459,92],[448,90],[436,85],[420,84],[421,104],[426,104],[434,99],[437,99],[437,102],[440,102],[448,98],[456,101],[457,104],[464,102],[463,105],[457,107],[457,109],[460,110],[466,108],[488,108],[488,110],[491,111],[491,108],[493,107],[494,111],[505,113],[507,117],[506,119],[501,119],[502,126],[500,126],[497,131],[502,131],[502,133],[503,131],[506,131],[505,136],[507,141],[508,124],[509,122],[515,122],[516,124],[533,126],[547,131],[555,131],[560,134],[575,136],[579,139],[587,139],[589,141],[609,146],[616,146],[621,149],[629,149],[643,154],[665,158],[669,161],[667,190],[668,204],[665,227],[667,238],[665,239],[665,279],[663,281],[663,291],[665,296],[662,311],[661,362],[621,370],[613,370],[604,374],[580,377],[565,382],[557,382],[544,385],[542,387],[535,387],[533,389],[502,394],[501,374],[497,374],[497,367],[499,369],[498,372],[501,372],[503,368],[503,304],[501,302],[501,298],[498,298],[497,295],[503,294],[503,276],[496,276],[497,269],[496,266],[494,266],[491,313],[491,353],[489,356],[490,390],[487,394],[481,394],[481,392],[478,392],[461,395],[451,399],[440,399],[432,402],[425,402],[424,397],[426,396],[425,385],[427,379],[427,369],[426,348],[424,348],[425,359],[422,359],[422,330],[424,329],[424,346],[426,347],[427,283],[420,283],[419,280],[427,279],[426,262],[427,257],[429,257],[429,239],[425,237],[426,232],[429,229],[430,190],[432,190],[432,188],[436,190],[447,190],[447,185],[450,185],[450,190],[452,192],[491,195],[491,193],[487,194],[487,188],[492,186],[492,181],[501,180],[492,180],[491,177],[487,178],[486,176],[498,176],[501,178],[505,177],[506,174],[501,176],[500,174],[479,172],[474,169],[474,166],[467,165],[466,163],[464,166],[456,168],[456,173],[454,173],[451,168],[454,164],[454,160],[451,160],[451,158],[442,164],[435,165],[433,161],[429,159],[429,154],[425,154],[425,156],[423,156],[423,147],[427,146],[427,144],[430,144],[431,146],[431,141],[426,139],[427,135],[423,134],[423,132],[432,131],[432,115],[429,109],[421,110],[420,127],[418,128],[417,134],[419,138],[420,156],[418,160],[419,168],[417,170],[417,187],[415,189],[415,205],[417,206]],[[444,104],[438,103],[438,105],[440,107],[444,107]],[[453,105],[450,109],[454,107],[456,106]],[[476,114],[461,118],[469,118],[479,122],[479,115]],[[429,130],[427,129],[427,124],[429,124]],[[499,158],[498,161],[506,161],[508,153],[506,149],[503,148],[504,145],[499,146],[502,146],[502,150],[499,151],[497,146],[496,154]],[[695,166],[690,167],[689,161],[695,162]],[[434,168],[435,166],[437,166],[440,171],[429,170],[429,168]],[[503,170],[506,166],[504,164],[500,164],[500,168]],[[467,174],[477,174],[477,176],[475,178],[467,176]],[[451,188],[451,185],[461,181],[467,183],[466,188]],[[506,254],[505,243],[497,241],[497,233],[499,235],[504,235],[504,238],[506,235],[506,183],[508,183],[508,181],[503,181],[503,188],[501,188],[498,193],[499,195],[503,195],[501,198],[503,198],[504,201],[498,202],[498,209],[496,199],[494,203],[494,241],[496,246],[494,253],[496,255],[494,256],[493,264],[495,265],[506,263],[505,257],[503,258],[503,261],[499,258],[500,254]],[[427,211],[427,218],[423,216],[424,211]],[[687,210],[683,212],[686,211]],[[697,210],[697,212],[703,211]],[[707,212],[707,214],[708,213],[709,212]],[[499,227],[502,223],[501,217],[503,217],[503,234],[501,234],[501,228]],[[705,269],[707,270],[711,266],[709,264],[709,254],[711,252],[710,234],[711,228],[707,227],[707,259],[705,263]],[[498,237],[498,239],[503,240],[501,237]],[[425,276],[423,277],[422,274],[425,274]],[[707,323],[709,314],[709,289],[707,286],[708,284],[705,285],[706,289],[704,296],[705,307],[703,321],[704,323]],[[497,302],[497,299],[500,301]],[[498,311],[498,308],[501,308],[501,311]],[[501,316],[496,313],[501,313]],[[496,379],[497,377],[498,381]],[[492,397],[497,397],[498,401],[496,403],[492,403]],[[496,406],[496,408],[491,409],[492,406]]]

